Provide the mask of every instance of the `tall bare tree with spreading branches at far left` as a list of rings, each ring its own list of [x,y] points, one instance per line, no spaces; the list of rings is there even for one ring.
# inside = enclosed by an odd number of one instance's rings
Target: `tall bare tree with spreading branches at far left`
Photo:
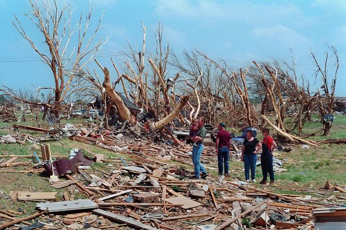
[[[51,1],[48,0],[43,1],[42,4],[37,3],[36,0],[29,0],[31,9],[29,13],[24,13],[42,35],[43,44],[46,48],[41,48],[37,45],[38,42],[31,39],[26,32],[28,29],[24,29],[17,16],[15,16],[13,25],[52,72],[54,87],[47,89],[54,91],[54,102],[53,104],[38,104],[50,107],[51,113],[57,115],[60,112],[62,102],[73,94],[70,89],[76,77],[75,74],[65,76],[64,70],[71,68],[72,72],[75,72],[77,68],[83,68],[93,59],[95,54],[100,52],[104,44],[101,40],[94,43],[103,15],[99,18],[96,27],[88,38],[87,34],[93,13],[91,6],[89,6],[86,16],[80,15],[79,21],[74,27],[72,20],[74,10],[70,6],[63,6],[62,9],[59,9],[56,0],[53,1],[52,5],[50,3]],[[75,44],[72,45],[73,43]],[[44,49],[48,49],[49,53],[45,53]],[[8,95],[16,98],[11,90],[5,90]]]

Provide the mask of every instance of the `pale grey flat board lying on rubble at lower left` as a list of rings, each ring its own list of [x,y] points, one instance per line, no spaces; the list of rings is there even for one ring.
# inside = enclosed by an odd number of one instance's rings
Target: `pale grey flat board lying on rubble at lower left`
[[[73,210],[84,210],[98,208],[98,205],[91,200],[60,201],[51,203],[40,203],[37,207],[48,212],[63,212]]]

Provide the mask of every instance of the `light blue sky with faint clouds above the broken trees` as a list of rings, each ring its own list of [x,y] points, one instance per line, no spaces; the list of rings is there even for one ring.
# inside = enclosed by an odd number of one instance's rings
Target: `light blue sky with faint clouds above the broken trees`
[[[88,9],[86,0],[66,3],[76,7],[76,16]],[[340,59],[336,94],[346,96],[346,1],[91,0],[91,4],[95,21],[106,8],[99,36],[110,38],[103,47],[105,55],[97,58],[102,65],[111,67],[107,54],[123,50],[126,39],[133,46],[142,45],[141,22],[147,27],[147,49],[154,51],[154,34],[161,22],[164,40],[176,54],[197,49],[240,67],[252,60],[291,60],[292,50],[298,73],[311,83],[315,66],[310,49],[323,61],[326,44],[334,45]],[[28,10],[25,0],[0,0],[0,84],[15,89],[53,83],[48,67],[38,61],[38,55],[12,25],[15,14],[40,44],[41,34],[22,14]],[[332,75],[332,62],[329,64]],[[317,88],[318,83],[310,90]]]

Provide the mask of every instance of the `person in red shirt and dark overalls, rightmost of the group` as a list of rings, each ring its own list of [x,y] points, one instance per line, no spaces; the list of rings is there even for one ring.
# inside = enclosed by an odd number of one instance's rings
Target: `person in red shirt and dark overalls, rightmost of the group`
[[[274,139],[269,136],[269,129],[264,128],[263,133],[263,143],[262,143],[262,154],[261,154],[261,168],[263,179],[260,184],[267,183],[267,176],[269,173],[270,184],[274,183],[274,170],[273,170],[273,155],[272,152],[276,148],[276,143]]]

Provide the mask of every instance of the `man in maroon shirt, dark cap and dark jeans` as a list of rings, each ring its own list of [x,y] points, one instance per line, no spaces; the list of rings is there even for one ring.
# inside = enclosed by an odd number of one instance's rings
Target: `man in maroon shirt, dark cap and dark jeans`
[[[222,176],[222,172],[225,173],[225,176],[229,177],[228,173],[228,158],[229,158],[229,149],[231,146],[231,135],[225,130],[226,124],[219,123],[218,134],[216,135],[215,143],[215,152],[218,155],[218,168],[219,176]],[[224,168],[225,166],[225,168]]]

